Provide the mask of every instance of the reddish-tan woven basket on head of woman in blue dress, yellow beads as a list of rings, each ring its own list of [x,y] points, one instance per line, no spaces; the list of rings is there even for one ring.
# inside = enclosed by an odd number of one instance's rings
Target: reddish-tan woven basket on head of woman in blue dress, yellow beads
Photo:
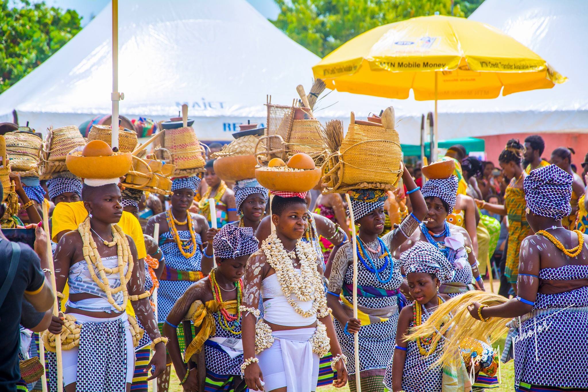
[[[205,149],[198,142],[191,126],[166,129],[162,147],[171,153],[172,163],[176,165],[176,175],[182,170],[202,169],[206,163]],[[163,158],[158,156],[158,159]]]

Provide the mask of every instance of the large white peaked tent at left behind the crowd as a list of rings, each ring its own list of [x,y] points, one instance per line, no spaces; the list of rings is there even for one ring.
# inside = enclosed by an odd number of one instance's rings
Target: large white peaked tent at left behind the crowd
[[[111,113],[111,46],[109,5],[0,95],[0,122],[12,121],[13,109],[37,130]],[[229,140],[239,123],[266,122],[266,94],[288,105],[296,85],[308,91],[319,60],[245,0],[119,1],[120,113],[128,118],[169,118],[188,103],[199,138]],[[350,110],[365,118],[393,103],[402,119],[406,101],[332,92],[315,114],[348,123]],[[420,111],[408,114],[399,122],[402,142],[418,142]]]

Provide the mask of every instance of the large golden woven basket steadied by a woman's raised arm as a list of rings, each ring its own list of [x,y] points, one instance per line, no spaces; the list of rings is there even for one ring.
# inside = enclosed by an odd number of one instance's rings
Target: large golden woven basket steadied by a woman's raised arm
[[[395,129],[352,123],[339,151],[323,166],[323,192],[392,189],[402,175],[401,160]]]

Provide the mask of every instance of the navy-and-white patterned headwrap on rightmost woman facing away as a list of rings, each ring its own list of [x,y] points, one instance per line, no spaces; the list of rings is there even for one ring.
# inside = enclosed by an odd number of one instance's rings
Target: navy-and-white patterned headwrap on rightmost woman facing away
[[[556,165],[532,170],[524,177],[524,199],[527,207],[540,216],[560,220],[572,213],[570,199],[574,179]]]

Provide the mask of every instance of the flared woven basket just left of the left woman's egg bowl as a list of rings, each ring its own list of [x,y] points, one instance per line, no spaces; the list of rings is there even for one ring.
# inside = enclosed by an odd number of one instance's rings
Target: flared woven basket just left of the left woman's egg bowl
[[[86,145],[78,127],[74,125],[61,128],[49,127],[45,142],[41,147],[39,160],[39,178],[42,180],[55,177],[57,173],[67,171],[65,157],[76,147]]]

